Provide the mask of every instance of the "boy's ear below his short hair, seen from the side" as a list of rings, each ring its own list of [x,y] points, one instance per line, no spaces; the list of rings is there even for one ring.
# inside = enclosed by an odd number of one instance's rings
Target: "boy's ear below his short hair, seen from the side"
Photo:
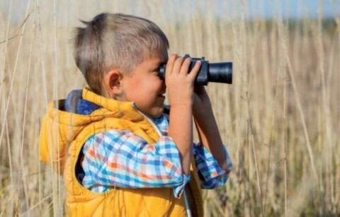
[[[104,76],[104,83],[110,98],[119,98],[123,93],[123,75],[119,70],[113,69]]]

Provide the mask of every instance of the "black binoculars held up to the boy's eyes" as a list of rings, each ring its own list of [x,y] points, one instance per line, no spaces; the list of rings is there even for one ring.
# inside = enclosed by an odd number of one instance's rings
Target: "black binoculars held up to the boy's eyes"
[[[190,57],[186,54],[183,58]],[[195,85],[208,85],[208,82],[217,83],[232,83],[232,62],[218,62],[209,63],[209,61],[202,58],[191,58],[191,64],[189,66],[189,71],[193,69],[196,61],[200,61],[200,71],[196,76]],[[166,64],[162,65],[159,69],[159,77],[165,80],[165,69]]]

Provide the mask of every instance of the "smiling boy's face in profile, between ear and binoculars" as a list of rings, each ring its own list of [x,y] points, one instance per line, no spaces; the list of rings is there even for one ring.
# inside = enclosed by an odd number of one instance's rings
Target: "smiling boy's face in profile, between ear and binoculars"
[[[123,76],[124,100],[135,102],[137,107],[151,117],[162,115],[166,86],[159,78],[159,66],[166,64],[168,54],[154,52],[143,60],[132,74]]]

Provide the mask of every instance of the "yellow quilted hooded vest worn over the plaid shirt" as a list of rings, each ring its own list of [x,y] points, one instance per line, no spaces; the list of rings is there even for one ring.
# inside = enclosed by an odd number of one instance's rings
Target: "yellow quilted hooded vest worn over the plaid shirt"
[[[108,192],[91,192],[79,183],[76,165],[79,153],[90,136],[110,129],[128,130],[147,143],[159,139],[147,117],[131,102],[103,98],[84,88],[82,98],[101,106],[91,115],[64,112],[64,100],[51,102],[40,130],[40,160],[64,174],[67,188],[67,216],[187,216],[183,199],[174,197],[172,188],[128,189],[116,187]],[[68,149],[68,152],[67,152]],[[191,164],[191,181],[186,193],[193,216],[203,216],[198,174]]]

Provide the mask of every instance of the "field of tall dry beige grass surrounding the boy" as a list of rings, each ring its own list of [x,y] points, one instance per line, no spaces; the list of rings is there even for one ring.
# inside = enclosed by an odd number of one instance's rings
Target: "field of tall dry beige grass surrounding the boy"
[[[103,11],[153,20],[169,52],[233,61],[232,85],[208,85],[234,170],[204,192],[206,216],[340,215],[339,17],[293,25],[275,1],[273,20],[251,21],[236,0],[75,2],[1,3],[0,216],[64,213],[62,177],[39,161],[40,121],[85,85],[72,28]]]

